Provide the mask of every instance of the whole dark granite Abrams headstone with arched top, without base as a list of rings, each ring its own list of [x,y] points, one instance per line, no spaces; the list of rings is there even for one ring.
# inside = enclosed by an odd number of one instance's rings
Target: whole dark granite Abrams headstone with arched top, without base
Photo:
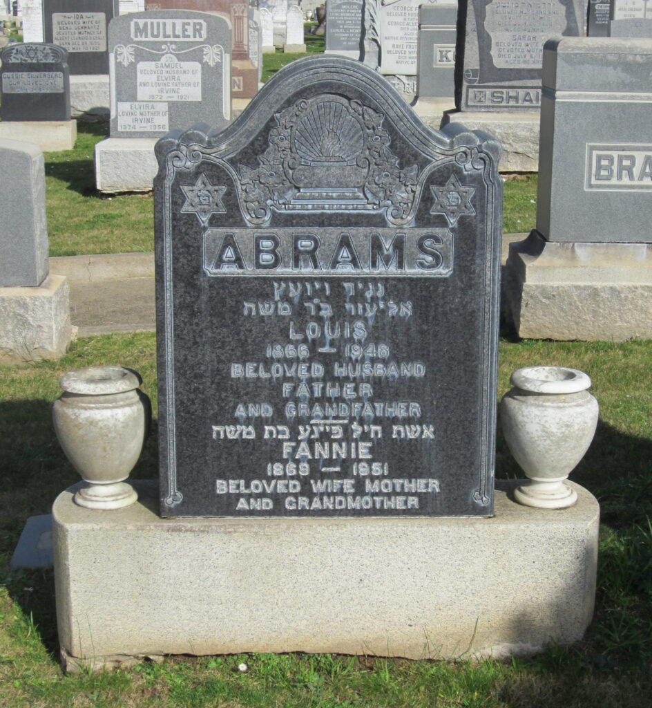
[[[161,514],[491,515],[499,144],[322,56],[156,152]]]

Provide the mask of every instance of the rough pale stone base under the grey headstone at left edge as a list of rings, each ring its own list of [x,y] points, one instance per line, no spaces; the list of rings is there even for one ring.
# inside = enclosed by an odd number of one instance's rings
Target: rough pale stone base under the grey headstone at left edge
[[[68,283],[48,275],[37,287],[0,288],[0,362],[57,359],[71,343]]]

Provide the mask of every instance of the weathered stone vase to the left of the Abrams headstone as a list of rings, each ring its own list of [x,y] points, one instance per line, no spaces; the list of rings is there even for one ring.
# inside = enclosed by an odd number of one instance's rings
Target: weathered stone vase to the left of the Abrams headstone
[[[52,420],[66,457],[88,486],[74,496],[79,506],[119,509],[138,498],[124,480],[138,462],[149,433],[151,405],[139,391],[141,377],[120,366],[68,372]]]

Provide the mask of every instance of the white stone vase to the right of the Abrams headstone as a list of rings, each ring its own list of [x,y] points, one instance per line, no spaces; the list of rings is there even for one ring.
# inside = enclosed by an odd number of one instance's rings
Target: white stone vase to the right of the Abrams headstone
[[[577,492],[565,483],[584,457],[598,425],[591,379],[576,369],[535,366],[511,375],[513,389],[500,404],[503,434],[530,484],[518,487],[525,506],[563,509]]]

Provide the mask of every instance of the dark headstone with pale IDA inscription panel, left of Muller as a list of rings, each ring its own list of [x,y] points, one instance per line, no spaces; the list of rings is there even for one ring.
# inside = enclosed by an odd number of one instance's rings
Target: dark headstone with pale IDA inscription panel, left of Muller
[[[108,26],[118,0],[43,0],[43,36],[68,52],[71,74],[108,74]]]

